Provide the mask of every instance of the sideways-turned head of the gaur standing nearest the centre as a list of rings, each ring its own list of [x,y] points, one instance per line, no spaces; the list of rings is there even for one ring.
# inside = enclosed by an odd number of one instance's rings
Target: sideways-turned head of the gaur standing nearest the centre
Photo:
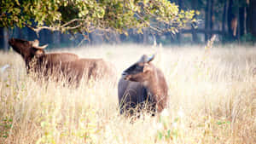
[[[155,70],[154,65],[150,63],[152,60],[154,60],[154,55],[151,57],[143,55],[140,60],[122,73],[122,78],[134,82],[147,81]]]

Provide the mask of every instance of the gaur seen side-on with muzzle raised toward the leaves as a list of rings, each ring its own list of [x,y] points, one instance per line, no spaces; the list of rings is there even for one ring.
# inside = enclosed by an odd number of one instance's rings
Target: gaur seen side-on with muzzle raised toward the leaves
[[[38,40],[11,38],[9,45],[25,60],[27,72],[38,72],[45,78],[54,76],[59,80],[64,76],[68,82],[79,83],[83,76],[87,80],[115,76],[111,64],[102,59],[79,59],[78,55],[71,53],[45,54],[44,48],[47,45],[39,47]]]

